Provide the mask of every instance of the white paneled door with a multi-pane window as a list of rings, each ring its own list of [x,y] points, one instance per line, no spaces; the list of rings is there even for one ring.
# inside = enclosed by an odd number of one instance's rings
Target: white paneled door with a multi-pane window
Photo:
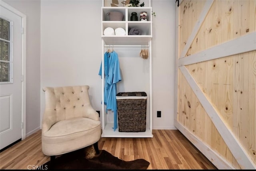
[[[22,138],[22,18],[0,6],[0,149]]]

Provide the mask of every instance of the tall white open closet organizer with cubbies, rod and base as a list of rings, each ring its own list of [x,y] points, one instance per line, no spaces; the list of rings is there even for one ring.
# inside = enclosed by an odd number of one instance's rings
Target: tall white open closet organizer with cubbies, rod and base
[[[149,1],[150,6],[150,1]],[[104,3],[103,3],[104,5]],[[109,21],[107,13],[112,11],[121,12],[124,15],[123,21]],[[132,12],[136,12],[138,21],[130,21]],[[140,21],[140,12],[147,12],[147,21]],[[123,28],[126,35],[104,35],[104,29],[111,27],[113,29]],[[131,28],[136,27],[141,30],[142,35],[128,35]],[[129,137],[129,138],[152,138],[152,7],[102,7],[102,63],[104,63],[104,53],[109,47],[141,47],[148,46],[149,61],[149,94],[147,93],[147,116],[146,132],[119,132],[112,129],[113,123],[106,122],[106,108],[104,105],[104,65],[102,65],[102,137]],[[106,47],[106,48],[105,48]],[[139,57],[139,56],[138,56]]]

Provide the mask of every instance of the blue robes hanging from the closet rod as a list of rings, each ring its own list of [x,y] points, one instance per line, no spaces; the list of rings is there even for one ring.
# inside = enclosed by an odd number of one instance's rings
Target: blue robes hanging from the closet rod
[[[102,76],[102,63],[99,75]],[[115,51],[104,54],[104,104],[107,110],[114,112],[114,131],[117,128],[117,104],[116,104],[116,83],[121,81],[118,54]]]

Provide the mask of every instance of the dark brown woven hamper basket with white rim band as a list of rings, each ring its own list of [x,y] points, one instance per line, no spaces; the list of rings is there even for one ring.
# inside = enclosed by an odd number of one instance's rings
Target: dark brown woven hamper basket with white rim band
[[[146,131],[146,92],[116,94],[119,132]]]

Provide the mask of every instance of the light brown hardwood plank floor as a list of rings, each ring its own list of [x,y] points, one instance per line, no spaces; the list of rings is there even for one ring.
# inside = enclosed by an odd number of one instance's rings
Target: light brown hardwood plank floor
[[[178,130],[153,130],[153,138],[101,138],[99,149],[130,161],[146,159],[148,169],[217,169]],[[42,153],[41,130],[0,153],[0,169],[28,169],[50,160]]]

